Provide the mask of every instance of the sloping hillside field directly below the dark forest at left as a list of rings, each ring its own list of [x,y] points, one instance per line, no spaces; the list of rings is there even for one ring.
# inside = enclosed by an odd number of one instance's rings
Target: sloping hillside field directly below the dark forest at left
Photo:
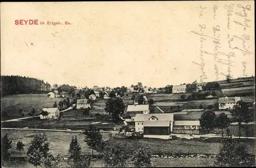
[[[19,118],[20,116],[17,112],[19,109],[23,109],[26,115],[32,108],[40,111],[43,107],[52,107],[55,101],[58,103],[63,99],[65,98],[48,98],[47,94],[8,95],[1,98],[1,111],[6,110],[10,119]]]

